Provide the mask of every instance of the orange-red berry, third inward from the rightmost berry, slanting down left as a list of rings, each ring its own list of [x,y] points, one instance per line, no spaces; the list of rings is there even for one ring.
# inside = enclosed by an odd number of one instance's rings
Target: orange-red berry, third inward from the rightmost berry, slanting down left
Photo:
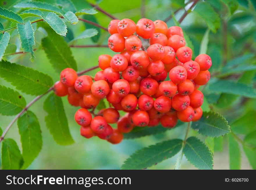
[[[187,71],[182,66],[176,66],[169,72],[170,80],[175,84],[183,83],[187,79]]]

